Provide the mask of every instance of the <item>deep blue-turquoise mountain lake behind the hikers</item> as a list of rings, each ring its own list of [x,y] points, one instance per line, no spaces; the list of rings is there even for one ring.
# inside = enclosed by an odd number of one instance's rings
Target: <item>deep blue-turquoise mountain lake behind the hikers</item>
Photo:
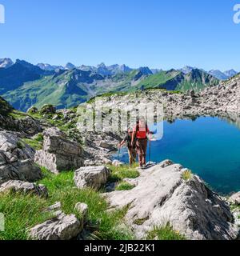
[[[240,191],[240,130],[219,118],[164,122],[163,137],[151,142],[151,161],[171,159],[204,179],[216,192]],[[120,158],[128,162],[126,150]],[[149,152],[147,161],[149,160]]]

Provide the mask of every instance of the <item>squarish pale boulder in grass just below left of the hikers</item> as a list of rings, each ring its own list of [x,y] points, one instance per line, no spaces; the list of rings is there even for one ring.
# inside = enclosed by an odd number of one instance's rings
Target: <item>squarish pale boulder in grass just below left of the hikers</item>
[[[74,182],[79,189],[86,187],[99,190],[110,177],[106,166],[87,166],[75,171]]]

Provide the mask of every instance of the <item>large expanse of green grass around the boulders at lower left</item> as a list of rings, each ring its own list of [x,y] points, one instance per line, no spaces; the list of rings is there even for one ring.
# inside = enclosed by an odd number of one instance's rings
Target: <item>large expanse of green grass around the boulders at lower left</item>
[[[26,194],[0,195],[0,212],[6,216],[6,231],[0,232],[2,240],[26,240],[27,230],[50,218],[44,213],[47,206],[61,202],[66,214],[82,216],[74,210],[77,202],[85,202],[89,206],[88,226],[90,238],[103,240],[130,240],[134,235],[128,229],[122,230],[127,208],[108,213],[108,204],[102,195],[94,190],[78,190],[74,186],[74,172],[67,171],[55,175],[42,168],[43,178],[38,183],[45,185],[49,198],[38,198]]]

